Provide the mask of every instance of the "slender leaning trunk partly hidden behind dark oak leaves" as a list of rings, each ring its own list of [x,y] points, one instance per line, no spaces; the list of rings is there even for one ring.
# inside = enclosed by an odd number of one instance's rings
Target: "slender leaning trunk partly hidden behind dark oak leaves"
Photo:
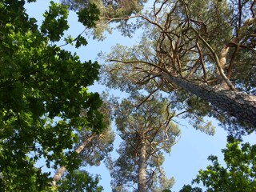
[[[76,153],[80,154],[82,150],[85,149],[85,147],[94,139],[95,134],[91,135],[90,138],[87,138],[85,142],[82,143],[81,146],[78,146],[78,149],[75,150]],[[56,186],[57,182],[62,178],[66,171],[65,166],[61,166],[56,174],[54,174],[53,181],[51,182],[51,186]]]

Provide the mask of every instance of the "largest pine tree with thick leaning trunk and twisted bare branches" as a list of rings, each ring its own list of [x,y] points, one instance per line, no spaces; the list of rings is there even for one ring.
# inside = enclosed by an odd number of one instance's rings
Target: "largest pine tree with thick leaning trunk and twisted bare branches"
[[[254,7],[254,1],[155,1],[149,14],[137,15],[144,22],[139,45],[118,45],[107,57],[106,79],[126,76],[137,89],[154,81],[152,90],[185,90],[210,102],[210,115],[231,131],[250,134],[256,125]]]

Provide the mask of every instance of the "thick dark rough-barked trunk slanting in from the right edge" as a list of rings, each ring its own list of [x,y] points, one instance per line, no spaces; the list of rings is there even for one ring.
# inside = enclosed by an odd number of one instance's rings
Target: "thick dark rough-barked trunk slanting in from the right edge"
[[[256,96],[244,94],[236,90],[221,90],[206,84],[196,85],[184,78],[162,74],[170,82],[182,87],[191,94],[210,102],[212,106],[237,118],[240,122],[256,127]]]

